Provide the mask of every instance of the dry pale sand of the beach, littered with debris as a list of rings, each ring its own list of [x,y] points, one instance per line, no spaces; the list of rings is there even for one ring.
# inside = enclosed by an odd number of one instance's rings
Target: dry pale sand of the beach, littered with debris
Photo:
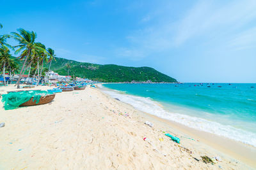
[[[0,93],[12,89],[1,87]],[[0,107],[0,123],[6,124],[0,128],[0,169],[250,169],[90,87],[56,94],[45,105]],[[147,120],[154,127],[145,125]],[[188,150],[163,131],[177,134]],[[196,160],[203,155],[222,161],[212,165]]]

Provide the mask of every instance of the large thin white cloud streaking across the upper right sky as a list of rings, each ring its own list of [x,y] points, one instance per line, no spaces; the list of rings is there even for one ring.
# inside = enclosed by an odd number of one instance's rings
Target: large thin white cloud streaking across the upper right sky
[[[252,39],[256,35],[246,29],[251,29],[250,24],[256,22],[256,1],[198,1],[191,8],[180,11],[184,15],[175,17],[176,20],[170,12],[175,6],[172,3],[165,5],[169,7],[154,7],[166,11],[154,13],[157,22],[150,21],[147,26],[131,32],[126,38],[128,45],[117,48],[118,55],[141,60],[150,53],[186,46],[189,41],[196,45],[211,43],[215,46],[228,46],[227,42],[237,41],[236,46],[244,47],[255,43]],[[150,20],[151,13],[145,16],[142,22]],[[240,34],[243,31],[244,34]]]

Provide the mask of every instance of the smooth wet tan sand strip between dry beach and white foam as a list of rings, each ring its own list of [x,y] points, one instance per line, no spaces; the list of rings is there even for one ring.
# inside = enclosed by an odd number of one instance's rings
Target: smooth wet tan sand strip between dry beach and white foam
[[[103,88],[108,89],[107,87],[103,87]],[[108,89],[108,90],[113,90],[113,89]],[[104,94],[108,97],[111,97],[109,96],[109,94],[106,94],[106,93]],[[123,101],[120,101],[120,102],[124,103]],[[124,104],[128,104],[128,103],[124,103]],[[132,106],[131,104],[128,104],[128,105],[134,108],[134,106]],[[138,110],[138,109],[134,108],[134,110]],[[178,122],[174,122],[172,120],[166,120],[164,118],[157,117],[156,115],[152,115],[145,111],[141,111],[141,112],[147,115],[147,117],[152,118],[152,120],[157,120],[161,124],[166,124],[177,131],[180,131],[186,135],[189,135],[190,138],[199,139],[199,141],[202,141],[204,144],[209,145],[212,148],[219,150],[220,152],[227,154],[230,157],[233,157],[234,159],[238,159],[244,162],[245,164],[248,164],[252,167],[256,167],[256,157],[255,157],[256,147],[252,145],[248,145],[240,141],[235,141],[233,139],[229,139],[223,136],[218,136],[217,134],[212,134],[210,132],[193,129],[192,127],[188,127],[186,125],[180,124]]]

